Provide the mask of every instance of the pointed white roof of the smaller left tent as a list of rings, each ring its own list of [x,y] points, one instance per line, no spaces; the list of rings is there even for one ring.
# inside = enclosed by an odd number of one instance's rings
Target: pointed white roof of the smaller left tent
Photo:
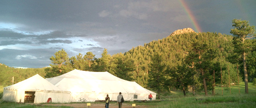
[[[24,91],[62,91],[38,74],[19,83],[4,87],[4,89]]]

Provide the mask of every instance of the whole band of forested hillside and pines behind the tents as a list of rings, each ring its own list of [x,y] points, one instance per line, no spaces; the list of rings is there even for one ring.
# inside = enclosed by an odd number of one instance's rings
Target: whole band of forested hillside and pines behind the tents
[[[17,83],[37,73],[43,77],[54,77],[74,69],[108,71],[158,93],[171,88],[181,89],[184,93],[190,88],[193,92],[203,89],[214,91],[214,84],[230,86],[239,80],[241,82],[243,65],[241,57],[236,57],[234,52],[233,36],[191,30],[179,30],[180,33],[132,48],[124,54],[110,55],[105,49],[101,58],[95,58],[92,52],[69,57],[65,50],[61,50],[49,58],[51,67],[42,69],[16,69],[2,64],[0,82],[8,86],[13,76],[14,83]],[[255,46],[255,39],[248,41]],[[256,77],[256,51],[255,47],[251,49],[247,54],[249,80]]]

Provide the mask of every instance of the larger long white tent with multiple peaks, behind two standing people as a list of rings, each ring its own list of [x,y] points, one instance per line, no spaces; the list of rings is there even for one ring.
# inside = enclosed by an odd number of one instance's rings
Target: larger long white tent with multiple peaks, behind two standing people
[[[89,102],[105,100],[107,94],[114,101],[119,92],[122,92],[126,101],[148,100],[150,93],[153,100],[156,97],[156,93],[144,89],[138,83],[120,79],[108,72],[72,70],[46,80],[61,90],[70,91],[72,102],[77,102],[79,98],[85,98]]]

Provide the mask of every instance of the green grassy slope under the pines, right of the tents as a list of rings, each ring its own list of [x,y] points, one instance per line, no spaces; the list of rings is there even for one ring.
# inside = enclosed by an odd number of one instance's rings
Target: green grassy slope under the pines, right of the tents
[[[208,91],[209,95],[211,92]],[[191,93],[188,93],[187,97],[170,98],[170,101],[150,103],[150,108],[256,108],[256,86],[253,86],[252,83],[249,83],[249,94],[245,94],[244,83],[230,88],[216,87],[215,96],[206,97],[203,94],[204,92],[201,92],[197,96],[192,96]]]

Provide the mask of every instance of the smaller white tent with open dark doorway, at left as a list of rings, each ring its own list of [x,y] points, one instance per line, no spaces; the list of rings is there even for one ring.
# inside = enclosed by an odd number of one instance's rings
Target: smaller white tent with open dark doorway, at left
[[[62,91],[38,74],[3,88],[5,101],[43,103],[48,98],[52,102],[70,102],[70,92]]]

